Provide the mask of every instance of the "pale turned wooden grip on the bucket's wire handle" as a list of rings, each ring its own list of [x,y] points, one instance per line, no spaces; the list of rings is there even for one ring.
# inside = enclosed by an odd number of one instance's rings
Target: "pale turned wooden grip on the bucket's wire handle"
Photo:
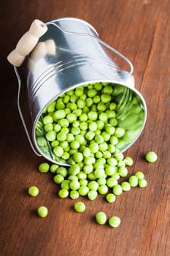
[[[20,38],[15,50],[7,56],[7,60],[15,67],[20,67],[25,57],[34,49],[39,37],[47,31],[47,26],[41,20],[34,20],[30,29]]]

